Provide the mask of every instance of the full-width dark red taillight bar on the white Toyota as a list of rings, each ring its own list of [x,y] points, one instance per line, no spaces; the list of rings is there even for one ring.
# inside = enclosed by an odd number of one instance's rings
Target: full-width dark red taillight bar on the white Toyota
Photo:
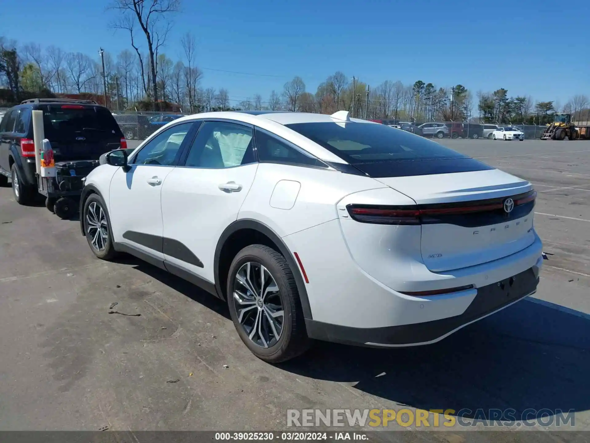
[[[376,224],[420,224],[422,217],[458,216],[492,211],[504,213],[504,201],[512,198],[513,207],[535,202],[536,191],[529,191],[514,197],[491,198],[488,200],[463,201],[457,203],[422,204],[417,206],[375,206],[349,204],[346,206],[350,218],[362,223]],[[512,209],[511,209],[512,211]],[[505,214],[506,215],[506,214]]]

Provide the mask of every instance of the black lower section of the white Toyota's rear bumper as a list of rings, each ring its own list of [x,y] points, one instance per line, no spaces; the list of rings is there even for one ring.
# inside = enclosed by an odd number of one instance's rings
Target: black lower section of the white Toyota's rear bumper
[[[306,319],[307,334],[316,340],[370,347],[405,347],[435,343],[468,324],[494,314],[536,292],[542,258],[515,276],[477,289],[477,295],[454,317],[381,328],[354,328]]]

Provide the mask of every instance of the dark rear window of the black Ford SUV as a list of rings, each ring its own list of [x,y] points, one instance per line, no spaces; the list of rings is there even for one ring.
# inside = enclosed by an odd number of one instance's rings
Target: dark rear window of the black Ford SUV
[[[71,139],[76,136],[100,139],[121,136],[119,125],[109,110],[99,106],[70,106],[73,105],[47,105],[42,109],[43,126],[48,139]]]

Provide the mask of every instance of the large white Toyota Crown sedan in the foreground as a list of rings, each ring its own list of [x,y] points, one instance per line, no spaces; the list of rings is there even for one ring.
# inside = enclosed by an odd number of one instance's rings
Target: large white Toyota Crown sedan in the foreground
[[[126,152],[87,176],[92,252],[226,300],[266,361],[434,343],[539,282],[528,181],[346,111],[185,116]]]

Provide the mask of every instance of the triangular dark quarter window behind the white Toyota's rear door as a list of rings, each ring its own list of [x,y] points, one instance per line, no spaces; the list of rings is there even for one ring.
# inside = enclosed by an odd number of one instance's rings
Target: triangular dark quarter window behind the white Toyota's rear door
[[[307,154],[303,149],[299,149],[260,129],[256,129],[256,150],[258,152],[258,161],[262,163],[327,167],[324,162]]]

